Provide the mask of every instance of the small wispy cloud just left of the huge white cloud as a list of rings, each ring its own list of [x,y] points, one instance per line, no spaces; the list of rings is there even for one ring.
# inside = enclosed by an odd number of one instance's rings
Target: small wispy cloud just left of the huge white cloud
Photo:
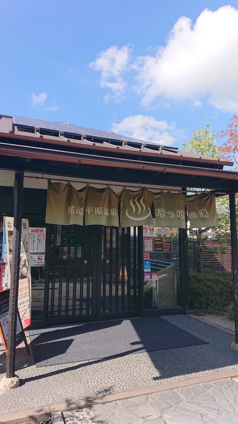
[[[90,62],[89,66],[101,72],[99,84],[101,88],[109,89],[104,100],[121,100],[124,98],[126,82],[123,81],[123,73],[128,69],[131,53],[131,45],[121,48],[111,46],[107,50],[101,50],[96,60]]]

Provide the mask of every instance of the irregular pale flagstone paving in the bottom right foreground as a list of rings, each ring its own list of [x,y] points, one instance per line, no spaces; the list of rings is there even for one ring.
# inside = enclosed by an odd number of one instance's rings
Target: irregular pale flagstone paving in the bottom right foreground
[[[238,379],[223,379],[96,404],[63,417],[66,424],[237,424],[237,399]]]

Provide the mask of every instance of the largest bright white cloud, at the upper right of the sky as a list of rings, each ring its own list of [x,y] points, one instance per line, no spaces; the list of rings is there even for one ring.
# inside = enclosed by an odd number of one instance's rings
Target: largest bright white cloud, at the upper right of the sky
[[[194,26],[187,17],[175,23],[165,47],[134,62],[142,104],[157,97],[175,101],[200,99],[228,112],[238,111],[238,10],[205,9]]]

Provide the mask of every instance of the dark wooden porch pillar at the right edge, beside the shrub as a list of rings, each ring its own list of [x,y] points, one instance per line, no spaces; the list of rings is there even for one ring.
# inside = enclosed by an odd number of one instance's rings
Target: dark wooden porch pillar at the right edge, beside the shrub
[[[238,248],[237,248],[237,226],[235,210],[235,193],[229,194],[230,203],[230,238],[231,238],[231,263],[232,279],[234,287],[234,309],[235,309],[235,343],[238,343]]]

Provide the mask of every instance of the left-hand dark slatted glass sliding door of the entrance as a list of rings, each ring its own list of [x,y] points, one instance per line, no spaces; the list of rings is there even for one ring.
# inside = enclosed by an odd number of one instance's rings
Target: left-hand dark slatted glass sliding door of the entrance
[[[92,230],[92,226],[47,227],[47,324],[70,322],[80,316],[92,315]]]

